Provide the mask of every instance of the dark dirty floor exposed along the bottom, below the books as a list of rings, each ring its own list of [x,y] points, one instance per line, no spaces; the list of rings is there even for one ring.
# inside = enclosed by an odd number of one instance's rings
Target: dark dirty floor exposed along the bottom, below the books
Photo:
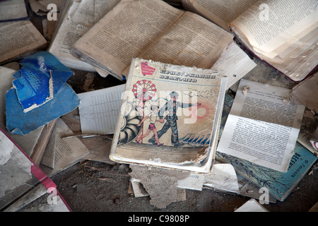
[[[128,193],[129,177],[116,175],[129,172],[127,165],[112,166],[102,162],[89,164],[102,168],[103,171],[86,171],[78,163],[52,178],[74,212],[232,212],[249,200],[249,197],[210,189],[202,191],[187,189],[186,201],[171,203],[167,208],[156,208],[149,203],[148,196],[135,198],[133,194]],[[317,166],[316,163],[313,167],[316,172],[306,175],[285,201],[276,201],[264,207],[274,212],[310,210],[318,200]],[[98,177],[109,177],[112,180],[103,181]]]

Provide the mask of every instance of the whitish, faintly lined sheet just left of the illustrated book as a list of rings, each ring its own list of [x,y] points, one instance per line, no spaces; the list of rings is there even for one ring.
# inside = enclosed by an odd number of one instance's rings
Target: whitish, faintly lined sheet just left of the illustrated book
[[[114,133],[124,88],[125,84],[78,94],[82,133]]]

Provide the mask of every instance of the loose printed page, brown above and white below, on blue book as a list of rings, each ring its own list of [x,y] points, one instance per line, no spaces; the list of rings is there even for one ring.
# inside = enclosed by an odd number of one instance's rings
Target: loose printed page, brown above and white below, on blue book
[[[286,172],[305,110],[304,105],[284,104],[289,91],[242,79],[218,152]]]

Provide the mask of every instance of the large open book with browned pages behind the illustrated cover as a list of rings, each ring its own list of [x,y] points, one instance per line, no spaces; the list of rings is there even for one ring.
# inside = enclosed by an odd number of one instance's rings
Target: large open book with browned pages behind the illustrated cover
[[[235,57],[226,59],[230,59],[229,64],[237,61],[233,78],[239,79],[240,70],[244,76],[246,69],[250,71],[256,65],[232,43],[230,32],[196,13],[180,10],[164,1],[124,0],[86,32],[71,52],[123,80],[134,57],[211,69],[230,49],[228,52]],[[242,64],[242,59],[247,64]],[[225,75],[232,76],[226,71]]]

